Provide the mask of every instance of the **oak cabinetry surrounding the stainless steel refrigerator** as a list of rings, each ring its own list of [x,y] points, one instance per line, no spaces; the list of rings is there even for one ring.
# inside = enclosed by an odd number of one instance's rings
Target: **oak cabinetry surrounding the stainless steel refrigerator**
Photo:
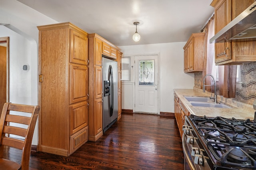
[[[113,50],[114,49],[114,50]],[[117,50],[118,49],[118,50]],[[112,51],[112,52],[111,52]],[[114,52],[113,52],[114,51]],[[111,55],[112,54],[112,55]],[[89,141],[97,141],[102,135],[102,55],[109,59],[121,57],[120,49],[96,33],[89,35]],[[121,65],[121,64],[120,64]],[[119,69],[119,68],[118,68]],[[119,74],[118,74],[119,76]],[[121,74],[120,74],[121,76]],[[121,78],[121,77],[120,77]],[[120,79],[121,81],[121,79]],[[119,93],[120,92],[120,93]],[[121,86],[118,87],[118,104],[121,103]],[[121,106],[120,106],[121,107]],[[119,111],[119,105],[118,105]],[[121,115],[118,117],[121,117]]]

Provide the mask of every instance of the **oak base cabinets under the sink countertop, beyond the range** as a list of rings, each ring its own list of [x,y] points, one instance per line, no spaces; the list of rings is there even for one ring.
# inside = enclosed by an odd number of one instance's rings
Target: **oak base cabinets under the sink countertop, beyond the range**
[[[185,123],[185,116],[190,115],[186,107],[183,106],[182,102],[179,100],[178,96],[174,93],[174,115],[179,128],[180,137],[182,139],[183,130],[182,126]]]

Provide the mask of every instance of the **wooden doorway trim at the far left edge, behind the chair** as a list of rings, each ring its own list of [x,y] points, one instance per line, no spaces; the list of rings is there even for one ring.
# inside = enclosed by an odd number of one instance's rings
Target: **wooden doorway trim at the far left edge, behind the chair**
[[[9,72],[10,72],[10,37],[0,37],[0,43],[6,43],[6,102],[10,102]]]

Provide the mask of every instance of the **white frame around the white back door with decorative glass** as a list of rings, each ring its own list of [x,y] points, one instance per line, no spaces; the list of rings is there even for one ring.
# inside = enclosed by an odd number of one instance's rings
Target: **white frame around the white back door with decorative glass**
[[[158,106],[158,111],[157,114],[160,115],[160,53],[150,53],[150,54],[138,54],[138,55],[131,55],[134,57],[134,70],[138,69],[136,68],[137,66],[135,65],[135,60],[136,57],[140,57],[140,56],[150,56],[150,55],[157,55],[157,62],[158,62],[158,66],[157,66],[157,84],[158,84],[158,101],[157,101],[157,106]],[[133,63],[132,63],[133,64]],[[132,105],[132,112],[135,113],[135,71],[133,72],[133,76],[134,76],[134,83],[133,83],[133,105]]]

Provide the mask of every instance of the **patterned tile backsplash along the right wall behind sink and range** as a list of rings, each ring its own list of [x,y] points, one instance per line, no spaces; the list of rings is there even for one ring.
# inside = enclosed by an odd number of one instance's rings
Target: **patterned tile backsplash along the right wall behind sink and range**
[[[242,64],[240,66],[240,78],[242,84],[241,88],[236,88],[235,100],[252,105],[256,99],[256,62]],[[194,76],[194,86],[201,88],[201,82],[202,72],[196,72]]]

